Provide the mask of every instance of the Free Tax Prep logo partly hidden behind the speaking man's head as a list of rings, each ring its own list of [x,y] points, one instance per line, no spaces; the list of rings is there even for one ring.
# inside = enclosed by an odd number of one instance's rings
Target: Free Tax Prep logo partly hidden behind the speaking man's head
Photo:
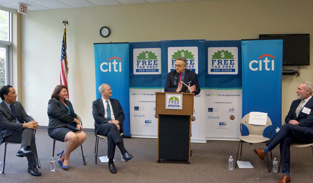
[[[167,72],[176,69],[175,59],[185,57],[187,61],[186,69],[198,74],[198,47],[168,47],[167,48]]]

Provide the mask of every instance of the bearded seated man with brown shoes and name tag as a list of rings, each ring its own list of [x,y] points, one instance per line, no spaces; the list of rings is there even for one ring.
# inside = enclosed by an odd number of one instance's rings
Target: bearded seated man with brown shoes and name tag
[[[280,158],[283,176],[279,183],[290,182],[290,144],[313,143],[313,87],[309,82],[302,82],[297,92],[297,100],[291,103],[285,118],[286,125],[269,140],[263,149],[252,150],[263,160],[265,155],[280,144]]]

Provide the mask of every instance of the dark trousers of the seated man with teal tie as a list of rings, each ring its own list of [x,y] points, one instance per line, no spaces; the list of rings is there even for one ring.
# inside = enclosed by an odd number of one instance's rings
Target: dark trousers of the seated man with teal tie
[[[98,126],[98,135],[108,138],[108,158],[114,159],[115,147],[118,142],[123,142],[120,131],[114,123],[102,123]]]

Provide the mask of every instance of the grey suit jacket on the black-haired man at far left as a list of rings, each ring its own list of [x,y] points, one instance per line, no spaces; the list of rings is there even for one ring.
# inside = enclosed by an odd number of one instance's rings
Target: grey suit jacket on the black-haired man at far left
[[[34,119],[28,116],[23,108],[23,105],[16,101],[13,104],[13,108],[20,119],[23,119],[25,122],[33,121]],[[0,103],[0,143],[4,137],[13,134],[14,131],[23,130],[23,123],[16,123],[16,118],[14,117],[11,110],[7,105],[2,101]]]

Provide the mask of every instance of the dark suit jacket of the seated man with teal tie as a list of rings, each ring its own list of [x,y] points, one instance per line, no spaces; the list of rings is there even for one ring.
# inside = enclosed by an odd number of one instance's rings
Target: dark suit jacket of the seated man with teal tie
[[[117,99],[111,99],[111,106],[114,114],[115,120],[119,120],[120,132],[123,133],[123,121],[125,119],[123,108]],[[98,135],[98,126],[102,123],[108,123],[110,120],[104,117],[104,106],[102,102],[102,97],[92,102],[92,115],[95,119],[95,135]]]

